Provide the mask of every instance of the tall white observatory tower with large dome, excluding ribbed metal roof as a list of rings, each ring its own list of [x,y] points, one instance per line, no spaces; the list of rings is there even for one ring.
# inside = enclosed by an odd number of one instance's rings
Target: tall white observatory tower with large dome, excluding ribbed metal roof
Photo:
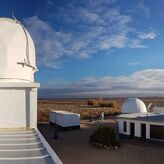
[[[37,127],[35,47],[17,20],[0,18],[0,128]]]

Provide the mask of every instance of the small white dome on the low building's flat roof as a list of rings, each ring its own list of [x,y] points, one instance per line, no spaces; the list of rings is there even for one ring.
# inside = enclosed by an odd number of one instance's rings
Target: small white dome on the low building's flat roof
[[[121,107],[122,113],[145,113],[146,106],[143,101],[137,98],[128,98]]]

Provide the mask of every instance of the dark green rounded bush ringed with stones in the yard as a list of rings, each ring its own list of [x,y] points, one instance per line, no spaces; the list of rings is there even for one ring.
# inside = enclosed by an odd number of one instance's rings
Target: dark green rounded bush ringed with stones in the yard
[[[115,131],[109,126],[98,127],[90,136],[91,143],[99,143],[104,146],[120,146]]]

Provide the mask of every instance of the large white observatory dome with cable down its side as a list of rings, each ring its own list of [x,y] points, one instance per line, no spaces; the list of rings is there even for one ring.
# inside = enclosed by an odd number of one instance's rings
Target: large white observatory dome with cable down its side
[[[0,18],[0,82],[33,82],[34,42],[16,19]]]

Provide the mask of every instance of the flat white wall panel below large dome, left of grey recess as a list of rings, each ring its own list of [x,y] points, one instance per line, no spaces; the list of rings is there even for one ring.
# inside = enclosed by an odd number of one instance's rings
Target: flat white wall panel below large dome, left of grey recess
[[[0,128],[24,127],[25,103],[25,90],[0,89]]]

